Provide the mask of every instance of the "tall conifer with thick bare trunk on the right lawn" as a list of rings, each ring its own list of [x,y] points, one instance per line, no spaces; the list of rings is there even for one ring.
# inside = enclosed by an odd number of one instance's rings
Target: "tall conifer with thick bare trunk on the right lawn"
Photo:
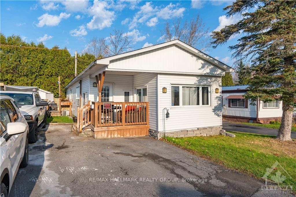
[[[213,32],[214,47],[241,34],[238,43],[229,49],[234,51],[235,59],[252,59],[253,78],[246,98],[274,101],[276,95],[283,102],[277,138],[291,140],[296,106],[296,1],[237,0],[224,10],[229,17],[241,14],[243,18]]]

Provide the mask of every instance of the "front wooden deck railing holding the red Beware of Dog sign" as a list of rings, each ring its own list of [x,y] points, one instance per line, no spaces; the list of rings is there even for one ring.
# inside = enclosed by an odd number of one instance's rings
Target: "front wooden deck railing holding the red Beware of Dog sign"
[[[92,102],[91,124],[96,127],[148,125],[148,102]]]

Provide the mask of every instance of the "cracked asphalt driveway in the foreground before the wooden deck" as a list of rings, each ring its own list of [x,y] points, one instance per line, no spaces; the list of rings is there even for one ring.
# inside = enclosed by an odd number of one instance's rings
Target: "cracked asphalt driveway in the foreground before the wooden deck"
[[[10,196],[292,196],[149,137],[96,140],[69,125],[45,130]]]

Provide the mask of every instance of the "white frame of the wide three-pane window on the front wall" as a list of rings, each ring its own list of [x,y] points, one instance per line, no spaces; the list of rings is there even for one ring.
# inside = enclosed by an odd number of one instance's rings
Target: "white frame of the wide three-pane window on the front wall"
[[[172,106],[172,86],[179,86],[179,105]],[[183,105],[182,100],[182,87],[197,87],[199,88],[199,105]],[[208,88],[209,94],[209,104],[203,105],[202,104],[202,87]],[[170,107],[171,108],[178,108],[178,107],[208,107],[212,106],[212,86],[211,85],[192,85],[192,84],[170,84]]]

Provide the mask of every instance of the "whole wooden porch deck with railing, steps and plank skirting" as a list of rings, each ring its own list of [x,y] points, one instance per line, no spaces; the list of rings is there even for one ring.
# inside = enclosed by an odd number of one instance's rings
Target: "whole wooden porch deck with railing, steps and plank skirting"
[[[78,112],[79,131],[89,126],[94,138],[148,135],[148,102],[89,102]]]

